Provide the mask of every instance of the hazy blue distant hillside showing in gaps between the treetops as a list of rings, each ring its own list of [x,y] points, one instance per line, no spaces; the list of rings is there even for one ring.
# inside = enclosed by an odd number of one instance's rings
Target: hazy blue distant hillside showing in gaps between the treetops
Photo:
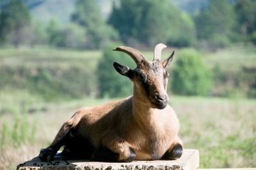
[[[0,1],[0,10],[4,4],[9,0]],[[70,15],[75,10],[75,3],[77,0],[23,0],[28,6],[33,20],[40,20],[42,22],[48,22],[49,20],[56,18],[60,20],[61,24],[67,24],[70,22]],[[113,1],[119,0],[96,0],[100,6],[100,10],[104,18],[108,18],[111,12],[111,6]],[[196,10],[205,8],[210,0],[170,0],[175,6],[180,8],[183,12],[194,13]],[[237,0],[228,0],[230,3],[234,3]]]

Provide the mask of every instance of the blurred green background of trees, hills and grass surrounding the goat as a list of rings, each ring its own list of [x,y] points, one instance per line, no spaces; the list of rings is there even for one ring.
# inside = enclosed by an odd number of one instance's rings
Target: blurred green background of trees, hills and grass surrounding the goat
[[[255,0],[1,0],[0,169],[36,157],[80,107],[132,95],[127,45],[172,50],[168,93],[200,167],[256,167]]]

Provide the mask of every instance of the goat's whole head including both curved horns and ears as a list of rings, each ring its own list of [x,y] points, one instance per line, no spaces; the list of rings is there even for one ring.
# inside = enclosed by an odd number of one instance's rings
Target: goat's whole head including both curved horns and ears
[[[163,62],[161,51],[166,47],[163,43],[156,45],[153,61],[147,61],[143,55],[131,47],[120,46],[114,50],[122,51],[131,56],[137,67],[132,70],[128,66],[114,63],[116,71],[134,82],[134,100],[148,107],[164,109],[168,104],[166,93],[168,82],[168,66],[172,61],[174,51]]]

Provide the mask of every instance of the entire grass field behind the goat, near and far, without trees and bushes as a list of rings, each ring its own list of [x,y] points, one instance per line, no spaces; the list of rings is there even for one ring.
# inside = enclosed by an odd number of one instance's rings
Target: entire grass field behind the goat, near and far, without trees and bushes
[[[152,52],[145,51],[143,54],[152,57]],[[169,51],[164,50],[163,56],[168,54]],[[176,50],[176,54],[179,57],[179,49]],[[242,66],[254,68],[256,66],[256,51],[251,47],[246,49],[236,47],[215,53],[200,52],[200,54],[204,56],[205,63],[211,67],[219,64],[227,70],[232,70]],[[6,67],[15,70],[24,67],[29,70],[28,73],[34,73],[35,68],[45,68],[45,70],[54,68],[69,72],[68,69],[75,66],[84,69],[86,73],[84,77],[92,75],[90,81],[76,83],[89,84],[95,82],[93,72],[101,55],[102,52],[99,51],[42,47],[0,49],[0,69]],[[10,72],[13,71],[12,69]],[[40,148],[51,143],[62,123],[70,118],[76,109],[118,100],[88,96],[79,98],[61,96],[51,100],[45,98],[42,93],[60,95],[54,93],[56,90],[54,87],[50,87],[52,91],[35,93],[31,90],[32,86],[24,82],[20,75],[15,73],[12,75],[15,79],[12,86],[3,86],[4,81],[10,81],[8,77],[0,78],[0,85],[4,87],[0,89],[0,169],[15,169],[17,164],[36,157]],[[22,86],[18,86],[19,84]],[[71,85],[72,81],[69,84],[71,89],[78,88]],[[170,94],[170,105],[179,117],[180,138],[184,141],[184,147],[200,151],[201,168],[256,167],[255,99],[236,96],[179,97]]]

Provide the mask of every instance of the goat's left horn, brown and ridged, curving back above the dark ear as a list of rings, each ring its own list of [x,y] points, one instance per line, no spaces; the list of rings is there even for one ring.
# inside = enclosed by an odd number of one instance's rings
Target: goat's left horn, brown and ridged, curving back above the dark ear
[[[119,46],[119,47],[116,47],[116,49],[113,49],[113,50],[118,50],[118,51],[125,52],[126,54],[131,56],[131,58],[135,61],[135,63],[137,65],[138,65],[138,63],[140,63],[141,60],[145,59],[143,57],[143,55],[140,53],[140,51],[138,51],[134,48],[131,48],[131,47]]]

